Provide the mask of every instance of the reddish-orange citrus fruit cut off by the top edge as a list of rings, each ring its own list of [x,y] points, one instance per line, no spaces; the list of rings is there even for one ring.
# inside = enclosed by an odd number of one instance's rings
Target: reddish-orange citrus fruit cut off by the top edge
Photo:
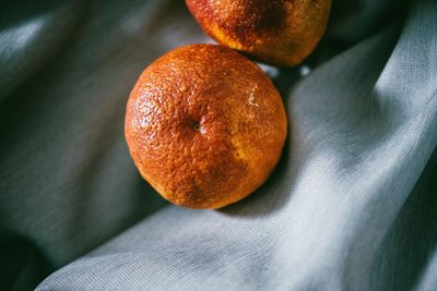
[[[186,0],[197,22],[229,48],[275,65],[296,65],[327,27],[331,0]]]

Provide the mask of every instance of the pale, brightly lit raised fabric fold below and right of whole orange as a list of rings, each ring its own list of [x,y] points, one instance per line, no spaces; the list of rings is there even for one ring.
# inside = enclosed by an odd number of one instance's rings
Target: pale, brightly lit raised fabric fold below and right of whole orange
[[[283,158],[251,197],[166,207],[37,290],[435,290],[435,223],[414,234],[410,219],[436,221],[436,15],[412,1],[400,35],[387,26],[299,80]]]

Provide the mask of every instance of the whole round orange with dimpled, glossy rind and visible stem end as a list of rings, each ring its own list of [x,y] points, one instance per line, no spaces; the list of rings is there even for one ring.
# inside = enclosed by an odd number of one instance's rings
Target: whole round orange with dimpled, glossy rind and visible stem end
[[[220,208],[269,177],[287,122],[257,64],[214,45],[175,49],[141,74],[125,134],[141,175],[169,202]]]

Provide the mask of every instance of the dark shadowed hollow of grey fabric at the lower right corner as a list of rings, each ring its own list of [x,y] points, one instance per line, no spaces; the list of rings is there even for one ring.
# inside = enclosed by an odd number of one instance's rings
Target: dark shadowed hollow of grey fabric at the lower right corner
[[[437,246],[436,172],[434,150],[375,257],[373,290],[413,290],[421,279]]]

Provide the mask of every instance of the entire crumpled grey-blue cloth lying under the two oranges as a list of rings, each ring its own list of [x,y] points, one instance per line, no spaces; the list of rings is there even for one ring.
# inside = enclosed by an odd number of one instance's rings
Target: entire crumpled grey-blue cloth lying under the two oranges
[[[141,71],[212,43],[184,1],[26,2],[0,10],[2,289],[437,290],[437,1],[334,0],[303,65],[263,66],[288,141],[220,210],[164,202],[123,137]]]

